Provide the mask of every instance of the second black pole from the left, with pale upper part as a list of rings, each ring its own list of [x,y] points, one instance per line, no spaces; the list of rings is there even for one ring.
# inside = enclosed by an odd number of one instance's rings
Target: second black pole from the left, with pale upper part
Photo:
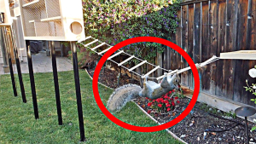
[[[23,84],[23,79],[21,75],[21,70],[20,70],[20,59],[18,55],[18,49],[17,49],[17,43],[15,39],[15,31],[11,27],[11,35],[12,35],[12,42],[13,42],[13,47],[14,47],[14,52],[15,52],[15,60],[16,60],[16,66],[17,66],[17,72],[18,72],[18,77],[20,81],[20,91],[21,91],[21,96],[22,96],[22,101],[26,103],[26,94],[25,94],[25,89],[24,89],[24,84]]]

